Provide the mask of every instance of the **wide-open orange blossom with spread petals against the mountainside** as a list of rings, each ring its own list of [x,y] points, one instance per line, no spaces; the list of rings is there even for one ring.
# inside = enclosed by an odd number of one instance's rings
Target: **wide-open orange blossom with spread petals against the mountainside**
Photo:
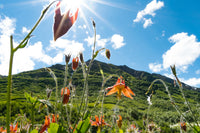
[[[111,90],[110,90],[111,89]],[[132,90],[126,86],[125,80],[123,80],[123,77],[120,76],[116,82],[116,84],[112,87],[106,88],[106,90],[110,90],[106,95],[112,95],[113,93],[117,92],[118,99],[121,99],[121,95],[133,99],[133,96],[135,96],[135,93],[132,92]]]

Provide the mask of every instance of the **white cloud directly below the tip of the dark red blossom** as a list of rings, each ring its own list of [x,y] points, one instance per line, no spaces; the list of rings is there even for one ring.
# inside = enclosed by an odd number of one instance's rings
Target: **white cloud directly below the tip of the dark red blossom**
[[[57,50],[58,54],[71,54],[72,56],[77,56],[80,52],[85,50],[82,43],[61,38],[56,42],[50,41],[49,50],[52,49]]]

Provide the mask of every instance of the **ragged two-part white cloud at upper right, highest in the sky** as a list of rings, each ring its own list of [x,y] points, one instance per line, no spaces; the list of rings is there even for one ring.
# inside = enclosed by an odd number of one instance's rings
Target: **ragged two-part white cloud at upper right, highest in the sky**
[[[156,15],[155,11],[161,9],[162,7],[164,7],[164,2],[157,2],[157,0],[152,0],[149,4],[146,5],[144,10],[141,10],[137,13],[137,17],[133,20],[133,22],[144,22],[143,27],[147,28],[148,26],[152,25],[153,22],[151,19],[146,19],[145,16],[150,15],[154,17]]]

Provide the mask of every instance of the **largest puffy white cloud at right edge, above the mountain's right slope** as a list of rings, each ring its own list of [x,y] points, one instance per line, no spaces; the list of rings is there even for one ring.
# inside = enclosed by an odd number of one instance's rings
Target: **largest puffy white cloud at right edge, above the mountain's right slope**
[[[200,42],[197,42],[195,35],[188,33],[177,33],[169,38],[171,43],[175,43],[162,56],[163,67],[169,68],[170,65],[176,65],[182,71],[186,71],[200,56]]]

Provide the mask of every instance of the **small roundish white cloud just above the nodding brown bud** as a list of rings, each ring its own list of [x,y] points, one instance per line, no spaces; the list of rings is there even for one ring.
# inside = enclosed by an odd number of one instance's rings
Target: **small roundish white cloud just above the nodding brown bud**
[[[113,43],[112,47],[114,49],[119,49],[121,48],[122,46],[125,45],[124,43],[124,37],[119,35],[119,34],[114,34],[112,37],[111,37],[111,42]]]

